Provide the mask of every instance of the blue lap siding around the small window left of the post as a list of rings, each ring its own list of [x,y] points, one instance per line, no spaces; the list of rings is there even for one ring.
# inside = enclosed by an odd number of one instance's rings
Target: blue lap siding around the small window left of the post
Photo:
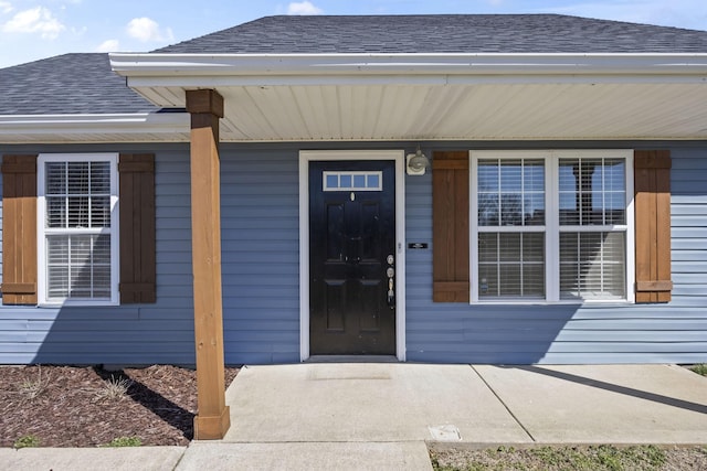
[[[1,153],[146,152],[112,147],[0,149]],[[0,308],[0,363],[193,364],[189,149],[156,152],[156,304]]]

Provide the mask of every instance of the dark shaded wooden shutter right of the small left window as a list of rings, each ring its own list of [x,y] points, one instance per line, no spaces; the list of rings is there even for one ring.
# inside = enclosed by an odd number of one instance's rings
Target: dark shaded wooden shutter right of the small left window
[[[155,156],[120,154],[120,303],[156,302]]]

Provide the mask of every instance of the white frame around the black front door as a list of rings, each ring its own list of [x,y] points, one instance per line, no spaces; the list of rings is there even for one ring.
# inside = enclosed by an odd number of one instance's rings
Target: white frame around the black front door
[[[309,358],[309,162],[317,160],[395,162],[395,356],[405,361],[405,151],[299,151],[299,360]]]

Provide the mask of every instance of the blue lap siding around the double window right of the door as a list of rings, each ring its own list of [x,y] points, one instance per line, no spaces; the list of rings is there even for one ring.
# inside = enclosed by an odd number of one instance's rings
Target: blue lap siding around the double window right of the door
[[[675,289],[671,303],[433,303],[432,254],[412,250],[408,253],[408,360],[505,364],[707,361],[705,150],[665,143],[627,143],[614,148],[636,146],[673,148],[672,269]],[[431,179],[409,179],[408,239],[432,239],[431,202]]]

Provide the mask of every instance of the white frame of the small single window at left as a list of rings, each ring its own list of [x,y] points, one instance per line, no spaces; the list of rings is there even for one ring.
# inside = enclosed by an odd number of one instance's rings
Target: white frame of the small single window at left
[[[110,163],[110,227],[101,229],[110,234],[110,298],[72,299],[48,297],[46,236],[51,234],[84,234],[83,229],[53,229],[46,227],[45,164],[48,162],[109,162]],[[118,153],[41,153],[36,161],[36,229],[38,229],[38,304],[57,306],[118,306],[119,304],[119,217],[118,217]],[[95,232],[92,232],[92,234]]]

